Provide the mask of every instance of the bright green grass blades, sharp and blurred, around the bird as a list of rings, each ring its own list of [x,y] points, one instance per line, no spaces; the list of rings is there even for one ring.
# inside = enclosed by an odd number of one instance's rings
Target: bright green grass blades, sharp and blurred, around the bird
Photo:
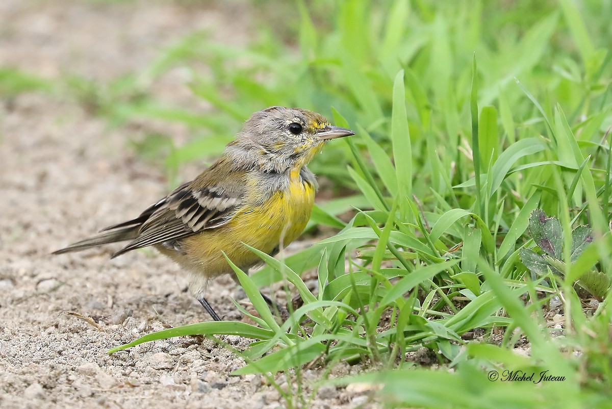
[[[264,373],[276,386],[278,372],[301,387],[304,364],[348,361],[371,372],[335,382],[380,383],[390,407],[610,407],[612,290],[598,287],[600,302],[589,307],[592,296],[576,283],[589,274],[609,283],[612,274],[612,4],[320,0],[266,10],[277,24],[260,16],[247,47],[194,33],[144,73],[102,89],[73,81],[73,89],[113,123],[155,116],[201,135],[172,147],[170,171],[218,154],[269,105],[351,127],[356,137],[330,143],[312,165],[335,192],[352,192],[319,203],[310,223],[339,231],[284,260],[260,253],[267,267],[250,277],[236,269],[256,325],[167,329],[113,351],[238,334],[255,341],[239,352],[247,364],[236,374]],[[147,95],[143,84],[166,70],[202,62],[210,74],[193,70],[191,86],[215,107],[211,116]],[[556,217],[561,232],[558,263],[539,273],[520,256],[544,250],[528,229],[534,209]],[[337,216],[347,211],[345,223]],[[591,227],[593,244],[572,258],[579,225]],[[300,274],[315,268],[311,293]],[[258,292],[279,281],[304,301],[282,324]],[[557,299],[563,320],[553,332],[545,315]],[[475,329],[479,340],[462,337]],[[523,339],[529,356],[512,352]],[[422,347],[438,369],[406,361]],[[490,381],[493,370],[565,380]],[[288,407],[307,407],[303,393],[282,393]]]

